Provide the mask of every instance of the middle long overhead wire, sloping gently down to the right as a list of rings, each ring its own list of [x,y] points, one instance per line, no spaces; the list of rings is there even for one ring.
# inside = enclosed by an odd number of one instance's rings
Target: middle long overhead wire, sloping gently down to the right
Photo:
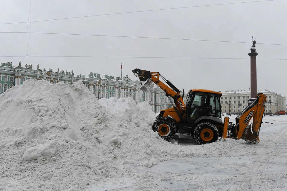
[[[0,33],[26,33],[26,32],[0,32]],[[91,35],[91,34],[71,34],[71,33],[30,33],[30,32],[29,32],[29,34],[75,35],[75,36],[106,36],[106,37],[123,37],[123,38],[150,38],[150,39],[164,39],[164,40],[231,42],[231,43],[250,44],[250,42],[239,42],[239,41],[217,41],[217,40],[202,40],[202,39],[188,39],[188,38],[160,38],[160,37],[146,37],[146,36],[116,36],[116,35]],[[271,44],[271,43],[257,43],[257,44],[287,46],[287,44]]]

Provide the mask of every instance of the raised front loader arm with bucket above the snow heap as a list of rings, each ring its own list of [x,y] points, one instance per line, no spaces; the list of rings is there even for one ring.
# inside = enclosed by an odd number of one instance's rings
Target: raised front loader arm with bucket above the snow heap
[[[166,80],[163,76],[160,75],[159,72],[150,72],[147,70],[140,70],[140,69],[135,69],[132,70],[132,72],[137,76],[140,81],[142,87],[140,88],[142,91],[146,91],[148,87],[150,87],[151,82],[153,81],[158,87],[160,87],[164,92],[166,93],[167,96],[170,96],[176,105],[175,110],[180,114],[179,116],[182,117],[182,115],[185,113],[186,108],[185,104],[183,101],[183,98],[180,95],[180,91],[178,88],[176,88],[170,81]],[[166,83],[164,84],[159,78],[162,78]],[[184,95],[184,92],[183,94]]]

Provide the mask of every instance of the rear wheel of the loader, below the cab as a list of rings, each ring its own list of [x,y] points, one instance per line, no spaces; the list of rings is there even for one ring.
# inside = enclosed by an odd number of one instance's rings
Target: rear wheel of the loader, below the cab
[[[217,141],[219,132],[214,124],[202,122],[195,127],[193,136],[198,144],[207,144]]]

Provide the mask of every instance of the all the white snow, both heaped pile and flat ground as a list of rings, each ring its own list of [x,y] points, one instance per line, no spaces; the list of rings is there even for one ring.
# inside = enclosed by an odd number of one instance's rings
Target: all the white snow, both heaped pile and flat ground
[[[28,80],[0,96],[0,190],[287,190],[286,115],[263,118],[257,145],[167,142],[147,102],[74,86]]]

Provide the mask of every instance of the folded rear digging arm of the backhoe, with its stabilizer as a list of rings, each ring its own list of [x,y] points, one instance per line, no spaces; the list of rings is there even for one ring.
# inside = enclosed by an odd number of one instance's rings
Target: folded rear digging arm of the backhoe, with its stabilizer
[[[225,117],[222,138],[224,140],[227,137],[234,139],[242,138],[248,144],[259,143],[259,131],[265,111],[265,102],[266,96],[263,93],[257,94],[253,103],[235,118],[235,125],[229,122],[228,117]],[[251,124],[248,125],[251,118],[253,118],[252,131]]]

